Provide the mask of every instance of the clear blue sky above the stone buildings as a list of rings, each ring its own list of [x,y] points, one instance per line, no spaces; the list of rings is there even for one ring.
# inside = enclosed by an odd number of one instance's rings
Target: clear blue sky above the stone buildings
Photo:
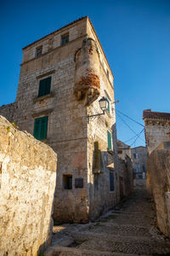
[[[169,112],[170,0],[1,1],[0,106],[15,100],[21,49],[85,15],[115,76],[116,108],[142,124],[146,108]],[[122,118],[136,133],[142,130]],[[135,136],[118,115],[116,122],[123,142]],[[144,132],[141,138],[135,146],[144,145]]]

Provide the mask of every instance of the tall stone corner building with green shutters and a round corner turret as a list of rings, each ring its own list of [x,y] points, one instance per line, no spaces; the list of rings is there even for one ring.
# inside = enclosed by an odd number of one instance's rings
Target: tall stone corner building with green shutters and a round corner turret
[[[102,113],[102,97],[105,114],[89,117]],[[88,16],[23,48],[16,100],[0,114],[57,153],[56,221],[86,223],[120,200],[114,102],[113,74]]]

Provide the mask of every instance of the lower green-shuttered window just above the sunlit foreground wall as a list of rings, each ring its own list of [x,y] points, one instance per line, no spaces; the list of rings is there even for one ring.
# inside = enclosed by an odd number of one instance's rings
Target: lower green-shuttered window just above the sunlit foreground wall
[[[37,140],[44,140],[48,133],[48,116],[34,120],[34,137]]]

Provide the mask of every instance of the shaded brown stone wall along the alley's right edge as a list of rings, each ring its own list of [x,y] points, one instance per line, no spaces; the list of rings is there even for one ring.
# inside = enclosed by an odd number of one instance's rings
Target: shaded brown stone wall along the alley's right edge
[[[170,149],[156,149],[149,155],[147,184],[156,202],[158,227],[170,237]]]

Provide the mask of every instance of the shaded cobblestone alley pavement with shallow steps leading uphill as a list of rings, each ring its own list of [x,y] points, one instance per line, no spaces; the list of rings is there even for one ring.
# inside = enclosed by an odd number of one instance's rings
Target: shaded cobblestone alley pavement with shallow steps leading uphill
[[[170,255],[170,241],[156,229],[152,206],[146,190],[138,189],[94,223],[54,226],[45,255]]]

